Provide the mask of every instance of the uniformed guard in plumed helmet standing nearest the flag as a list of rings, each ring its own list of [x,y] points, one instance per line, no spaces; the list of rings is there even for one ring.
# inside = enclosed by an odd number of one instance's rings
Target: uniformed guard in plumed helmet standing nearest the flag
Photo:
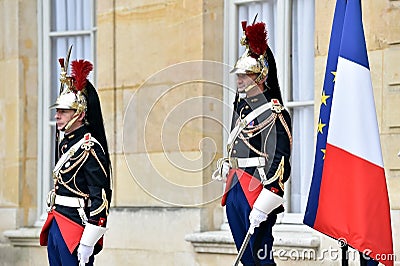
[[[282,103],[274,56],[262,22],[242,22],[246,47],[237,77],[228,157],[213,178],[226,181],[222,205],[243,265],[275,265],[272,227],[290,176],[291,118]]]

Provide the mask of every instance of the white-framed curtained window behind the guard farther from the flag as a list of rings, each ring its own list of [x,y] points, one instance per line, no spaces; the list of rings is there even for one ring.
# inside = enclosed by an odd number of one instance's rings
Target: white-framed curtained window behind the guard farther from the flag
[[[49,106],[59,95],[60,65],[72,44],[70,62],[86,59],[95,64],[95,1],[38,1],[39,18],[39,96],[38,96],[38,223],[45,217],[46,196],[52,188],[55,164],[55,121]],[[89,79],[95,80],[93,73]]]

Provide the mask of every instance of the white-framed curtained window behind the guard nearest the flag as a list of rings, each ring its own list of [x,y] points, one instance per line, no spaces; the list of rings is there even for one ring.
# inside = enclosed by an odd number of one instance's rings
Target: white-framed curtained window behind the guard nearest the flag
[[[314,1],[266,0],[225,1],[225,63],[233,66],[244,48],[240,22],[257,21],[267,26],[268,45],[273,51],[278,68],[278,79],[285,106],[292,115],[293,148],[292,174],[286,185],[286,218],[302,221],[307,205],[314,154]],[[226,76],[230,86],[234,77]],[[233,93],[224,100],[232,103]],[[224,114],[229,123],[231,114]],[[224,136],[225,141],[227,136]],[[294,215],[293,215],[294,214]],[[293,220],[293,219],[294,220]]]

